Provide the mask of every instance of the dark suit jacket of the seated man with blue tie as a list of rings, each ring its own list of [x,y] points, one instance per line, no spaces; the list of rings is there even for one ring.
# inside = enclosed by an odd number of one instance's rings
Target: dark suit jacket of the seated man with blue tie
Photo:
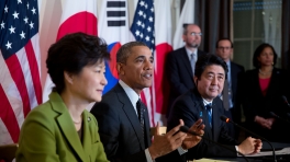
[[[185,125],[190,127],[199,118],[202,118],[203,124],[205,124],[203,136],[216,142],[230,144],[227,147],[233,150],[226,150],[202,139],[196,147],[188,150],[188,160],[210,157],[237,157],[234,147],[235,144],[237,144],[237,142],[227,135],[226,123],[220,119],[221,115],[224,115],[223,103],[220,97],[215,97],[212,102],[213,128],[211,129],[202,97],[200,96],[196,88],[182,94],[176,100],[168,118],[168,129],[171,129],[175,125],[177,125],[179,119],[183,119]]]

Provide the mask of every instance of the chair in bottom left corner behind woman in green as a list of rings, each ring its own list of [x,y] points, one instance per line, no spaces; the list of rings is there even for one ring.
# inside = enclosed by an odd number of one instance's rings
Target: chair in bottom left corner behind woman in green
[[[12,162],[15,158],[18,143],[0,146],[0,161]]]

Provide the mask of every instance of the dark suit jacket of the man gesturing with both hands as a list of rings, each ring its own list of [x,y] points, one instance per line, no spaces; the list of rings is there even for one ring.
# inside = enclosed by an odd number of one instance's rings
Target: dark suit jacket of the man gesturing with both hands
[[[104,152],[111,162],[146,162],[138,117],[119,83],[93,105],[91,113],[98,120]],[[148,113],[144,115],[147,144],[150,146]]]

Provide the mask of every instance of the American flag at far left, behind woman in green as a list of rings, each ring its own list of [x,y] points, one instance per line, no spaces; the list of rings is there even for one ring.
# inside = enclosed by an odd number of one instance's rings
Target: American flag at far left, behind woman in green
[[[38,5],[0,3],[0,144],[16,143],[29,112],[42,103]]]

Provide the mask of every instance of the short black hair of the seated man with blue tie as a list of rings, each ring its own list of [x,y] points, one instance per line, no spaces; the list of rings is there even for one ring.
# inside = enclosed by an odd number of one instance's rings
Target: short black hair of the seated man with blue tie
[[[214,54],[204,54],[198,58],[198,61],[196,63],[194,76],[200,79],[205,68],[212,65],[221,66],[224,69],[225,79],[227,78],[228,69],[226,62]]]

